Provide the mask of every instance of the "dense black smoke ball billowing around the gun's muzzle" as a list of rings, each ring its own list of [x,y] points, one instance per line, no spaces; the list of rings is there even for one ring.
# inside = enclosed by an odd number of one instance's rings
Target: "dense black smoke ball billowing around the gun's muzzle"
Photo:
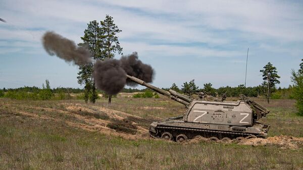
[[[150,83],[153,81],[153,73],[154,70],[151,66],[143,64],[138,59],[137,52],[124,55],[120,60],[97,61],[93,68],[96,87],[110,95],[119,93],[126,84],[130,86],[137,85],[128,80],[126,74]]]

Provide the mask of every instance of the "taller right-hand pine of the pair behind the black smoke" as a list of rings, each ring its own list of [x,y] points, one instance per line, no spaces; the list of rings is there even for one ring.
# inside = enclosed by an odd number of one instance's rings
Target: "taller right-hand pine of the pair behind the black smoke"
[[[115,54],[121,54],[122,47],[120,46],[117,33],[121,32],[114,24],[113,17],[107,15],[104,21],[100,21],[100,39],[102,44],[102,54],[103,59],[114,58]],[[109,96],[109,104],[112,102],[112,96]]]

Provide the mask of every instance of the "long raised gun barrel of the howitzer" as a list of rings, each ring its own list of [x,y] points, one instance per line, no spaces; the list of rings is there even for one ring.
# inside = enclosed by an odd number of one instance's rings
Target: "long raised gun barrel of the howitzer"
[[[160,89],[158,87],[155,87],[155,86],[153,86],[151,84],[145,83],[143,80],[140,80],[140,79],[138,79],[136,77],[133,77],[133,76],[130,76],[130,75],[126,75],[126,76],[127,76],[127,78],[129,78],[133,82],[138,83],[138,84],[140,84],[142,86],[145,86],[145,87],[147,87],[147,88],[149,88],[151,90],[154,90],[154,91],[156,91],[156,92],[158,92],[160,94],[163,94],[163,95],[165,95],[165,96],[167,96],[167,97],[169,97],[169,98],[171,98],[173,100],[176,100],[179,103],[184,104],[186,107],[188,107],[189,103],[191,102],[190,98],[188,98],[188,97],[186,97],[186,96],[184,96],[184,95],[182,95],[182,94],[180,94],[180,93],[178,93],[178,92],[176,92],[176,91],[174,91],[172,89],[170,89],[169,91],[165,91],[165,90]]]

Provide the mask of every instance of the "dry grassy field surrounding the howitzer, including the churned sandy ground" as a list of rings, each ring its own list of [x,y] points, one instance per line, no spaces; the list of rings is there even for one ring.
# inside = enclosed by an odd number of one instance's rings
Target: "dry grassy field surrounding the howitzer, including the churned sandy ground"
[[[269,136],[303,137],[293,100],[255,100],[271,110],[262,119]],[[111,105],[1,98],[0,169],[303,169],[302,147],[178,144],[146,134],[150,122],[184,111],[163,96],[118,95]]]

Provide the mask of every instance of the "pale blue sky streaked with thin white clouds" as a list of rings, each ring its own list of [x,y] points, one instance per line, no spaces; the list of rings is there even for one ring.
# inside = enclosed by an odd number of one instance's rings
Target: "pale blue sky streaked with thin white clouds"
[[[0,88],[80,87],[78,67],[49,56],[45,31],[76,43],[92,20],[114,17],[123,53],[137,51],[155,69],[153,84],[203,88],[261,84],[271,62],[287,87],[303,59],[303,5],[296,1],[0,1]],[[120,58],[119,55],[116,58]]]

